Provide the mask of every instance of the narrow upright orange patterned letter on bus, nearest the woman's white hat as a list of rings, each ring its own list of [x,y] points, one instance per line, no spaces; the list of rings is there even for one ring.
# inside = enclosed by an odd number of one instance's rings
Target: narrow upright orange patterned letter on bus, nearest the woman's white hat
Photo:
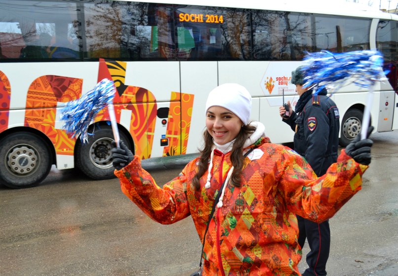
[[[171,93],[172,102],[170,103],[166,133],[166,137],[169,138],[169,146],[163,149],[163,156],[186,153],[194,95],[181,93],[181,106],[178,101],[173,101],[177,100],[179,96],[178,92]],[[179,118],[181,118],[181,122]]]

